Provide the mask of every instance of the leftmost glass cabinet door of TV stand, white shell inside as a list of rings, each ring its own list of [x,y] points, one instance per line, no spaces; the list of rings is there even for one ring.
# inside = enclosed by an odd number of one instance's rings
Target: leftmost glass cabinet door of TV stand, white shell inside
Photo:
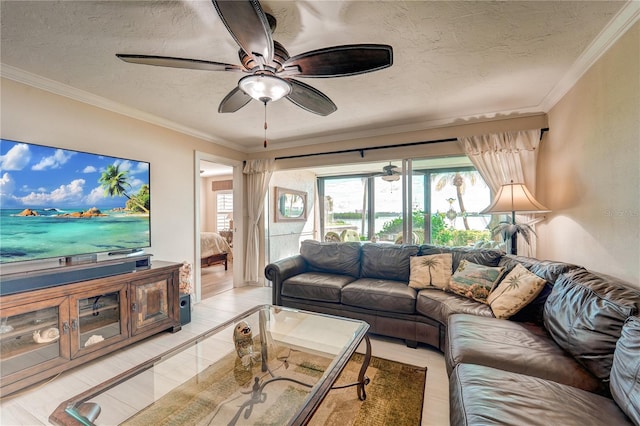
[[[0,311],[0,370],[4,383],[35,366],[69,359],[69,302],[61,297]]]

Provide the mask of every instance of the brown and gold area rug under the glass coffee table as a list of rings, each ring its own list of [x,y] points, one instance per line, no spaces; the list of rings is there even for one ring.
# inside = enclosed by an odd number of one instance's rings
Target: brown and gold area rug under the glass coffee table
[[[304,360],[303,360],[304,359]],[[357,381],[363,356],[354,354],[336,386]],[[309,382],[320,377],[329,361],[289,352],[270,362],[276,376]],[[258,362],[259,364],[259,362]],[[251,385],[260,366],[242,368],[237,357],[227,356],[183,383],[124,422],[124,425],[219,425],[287,424],[291,404],[300,404],[308,388],[290,381],[276,381],[264,388],[261,397],[247,410]],[[372,357],[367,377],[367,399],[360,401],[356,387],[333,389],[322,402],[310,424],[320,425],[419,425],[426,380],[426,368]],[[268,373],[267,373],[268,374]],[[264,376],[265,378],[267,376]],[[238,393],[238,385],[246,386]],[[260,399],[260,398],[259,398]],[[243,408],[244,407],[244,408]],[[213,413],[213,414],[212,414]],[[248,418],[245,418],[248,415]]]

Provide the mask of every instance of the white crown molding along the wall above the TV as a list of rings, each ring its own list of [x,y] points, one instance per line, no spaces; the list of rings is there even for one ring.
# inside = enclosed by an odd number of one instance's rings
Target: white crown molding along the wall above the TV
[[[183,126],[175,123],[171,120],[158,117],[153,114],[140,111],[135,108],[131,108],[124,104],[111,101],[102,96],[97,96],[84,90],[71,87],[69,85],[51,80],[45,77],[41,77],[37,74],[30,73],[20,68],[13,67],[11,65],[0,64],[0,76],[9,80],[16,81],[18,83],[26,84],[36,89],[41,89],[49,93],[53,93],[65,98],[73,99],[78,102],[82,102],[88,105],[92,105],[97,108],[101,108],[107,111],[115,112],[117,114],[124,115],[126,117],[134,118],[136,120],[144,121],[146,123],[154,124],[156,126],[164,127],[169,130],[173,130],[184,135],[193,136],[198,139],[213,142],[218,145],[234,149],[236,151],[244,152],[244,148],[229,142],[224,139],[212,138],[207,133],[200,132],[191,127]]]

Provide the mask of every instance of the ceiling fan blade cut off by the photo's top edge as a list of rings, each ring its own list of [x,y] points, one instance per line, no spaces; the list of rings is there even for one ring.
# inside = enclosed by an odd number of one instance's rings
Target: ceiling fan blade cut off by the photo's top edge
[[[231,37],[247,55],[273,60],[273,39],[267,16],[257,0],[212,0]]]

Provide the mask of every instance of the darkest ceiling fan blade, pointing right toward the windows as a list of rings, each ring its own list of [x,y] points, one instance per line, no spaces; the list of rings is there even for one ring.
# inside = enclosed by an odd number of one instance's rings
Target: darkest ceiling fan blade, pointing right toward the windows
[[[284,63],[288,75],[299,77],[344,77],[388,68],[393,48],[386,44],[351,44],[312,50]],[[293,70],[289,68],[293,67]],[[298,68],[298,72],[295,71]]]

